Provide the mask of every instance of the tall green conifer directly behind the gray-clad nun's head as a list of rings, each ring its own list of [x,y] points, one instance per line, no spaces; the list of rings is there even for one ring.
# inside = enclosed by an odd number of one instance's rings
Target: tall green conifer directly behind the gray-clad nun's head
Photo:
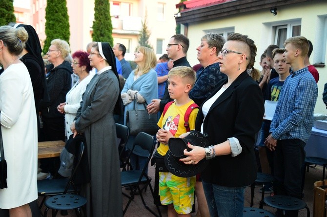
[[[94,1],[93,41],[108,42],[113,46],[110,4],[108,0]]]

